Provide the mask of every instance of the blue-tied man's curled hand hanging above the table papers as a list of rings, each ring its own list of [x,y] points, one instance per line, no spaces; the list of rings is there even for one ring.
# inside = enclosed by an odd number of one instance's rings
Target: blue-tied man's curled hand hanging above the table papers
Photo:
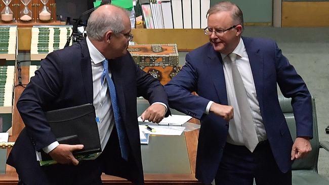
[[[153,123],[159,123],[166,115],[166,107],[161,104],[149,106],[141,115],[143,121],[148,120]]]

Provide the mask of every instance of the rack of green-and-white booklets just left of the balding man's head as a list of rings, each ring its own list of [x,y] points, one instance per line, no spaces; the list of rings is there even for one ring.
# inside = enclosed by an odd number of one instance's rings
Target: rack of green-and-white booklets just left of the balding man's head
[[[49,53],[63,49],[71,33],[72,25],[33,26],[31,33],[31,60],[42,60]]]

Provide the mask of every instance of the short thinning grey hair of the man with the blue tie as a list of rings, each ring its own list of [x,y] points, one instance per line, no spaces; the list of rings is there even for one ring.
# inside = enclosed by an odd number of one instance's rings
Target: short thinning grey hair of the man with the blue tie
[[[113,33],[119,33],[124,30],[125,26],[122,23],[122,15],[128,15],[128,13],[124,9],[121,10],[123,10],[125,14],[113,12],[109,15],[106,12],[100,12],[98,14],[93,12],[88,19],[88,26],[86,29],[88,37],[101,41],[105,33],[109,30],[112,30]]]

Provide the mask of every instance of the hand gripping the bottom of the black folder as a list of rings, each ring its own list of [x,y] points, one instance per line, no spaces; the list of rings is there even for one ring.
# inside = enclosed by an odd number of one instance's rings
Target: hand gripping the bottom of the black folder
[[[83,145],[63,145],[60,144],[54,150],[49,152],[50,157],[61,164],[78,165],[79,161],[74,158],[72,152],[83,149]]]

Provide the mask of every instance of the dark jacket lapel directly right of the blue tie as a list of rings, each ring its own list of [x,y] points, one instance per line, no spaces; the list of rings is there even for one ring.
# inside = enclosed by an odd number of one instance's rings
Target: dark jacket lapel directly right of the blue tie
[[[119,106],[119,110],[121,113],[121,118],[126,123],[126,101],[125,101],[125,93],[124,93],[124,76],[120,73],[120,62],[119,59],[109,60],[109,69],[111,70],[112,80],[115,86],[117,102]]]

